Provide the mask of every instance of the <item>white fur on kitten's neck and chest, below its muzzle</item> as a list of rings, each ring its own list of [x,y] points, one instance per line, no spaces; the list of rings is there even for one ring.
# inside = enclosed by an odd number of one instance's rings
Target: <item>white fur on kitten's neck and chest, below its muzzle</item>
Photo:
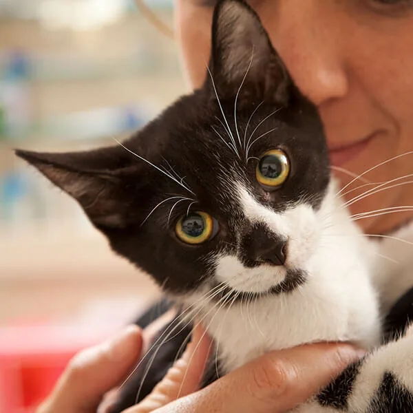
[[[330,224],[302,267],[308,279],[293,292],[221,308],[192,297],[217,343],[224,372],[269,350],[302,343],[352,341],[366,349],[379,344],[379,304],[368,266],[371,246],[336,202],[322,207]]]

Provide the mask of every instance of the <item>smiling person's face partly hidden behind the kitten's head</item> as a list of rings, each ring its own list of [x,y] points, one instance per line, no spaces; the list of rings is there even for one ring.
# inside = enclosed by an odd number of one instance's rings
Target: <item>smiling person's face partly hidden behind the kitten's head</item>
[[[176,0],[178,39],[191,87],[206,74],[215,0]],[[250,0],[295,84],[319,109],[332,165],[359,175],[413,151],[413,0]],[[413,181],[413,154],[363,176],[390,184]],[[352,177],[335,172],[341,184]],[[366,184],[358,180],[352,187]],[[352,213],[413,205],[413,184],[354,202]],[[374,188],[363,188],[354,195]],[[383,187],[381,187],[383,188]],[[347,189],[344,191],[346,192]],[[394,211],[394,210],[393,210]],[[384,233],[413,212],[358,220]],[[376,214],[377,215],[377,214]]]

